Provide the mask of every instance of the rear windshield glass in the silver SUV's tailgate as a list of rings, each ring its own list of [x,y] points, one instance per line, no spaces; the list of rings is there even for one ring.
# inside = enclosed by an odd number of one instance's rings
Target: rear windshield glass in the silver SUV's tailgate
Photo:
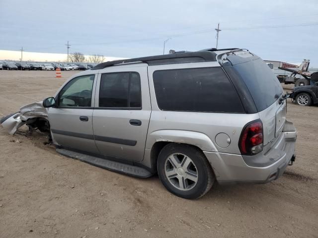
[[[275,74],[260,58],[236,64],[233,68],[243,79],[258,112],[272,105],[284,92]]]

